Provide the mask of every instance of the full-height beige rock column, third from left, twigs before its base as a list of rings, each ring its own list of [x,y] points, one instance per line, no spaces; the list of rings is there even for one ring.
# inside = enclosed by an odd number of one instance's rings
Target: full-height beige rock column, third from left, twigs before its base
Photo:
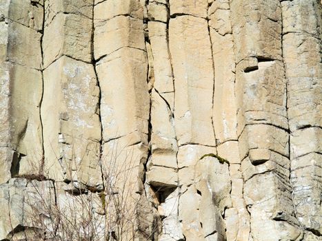
[[[153,215],[143,187],[150,96],[139,1],[95,2],[94,59],[101,87],[102,171],[110,217],[107,229],[122,240],[133,236],[146,240],[156,230],[150,225]],[[110,200],[117,202],[113,205]]]

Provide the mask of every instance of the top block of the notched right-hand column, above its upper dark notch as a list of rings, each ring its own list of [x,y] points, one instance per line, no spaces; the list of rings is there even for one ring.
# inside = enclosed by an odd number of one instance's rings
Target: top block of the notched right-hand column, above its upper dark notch
[[[236,63],[250,56],[281,60],[279,0],[234,0],[230,8]]]

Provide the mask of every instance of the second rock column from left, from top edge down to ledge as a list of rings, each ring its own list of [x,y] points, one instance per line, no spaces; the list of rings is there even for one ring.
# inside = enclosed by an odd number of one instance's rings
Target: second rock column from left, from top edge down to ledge
[[[103,188],[99,86],[92,65],[93,1],[45,1],[43,146],[45,173]]]

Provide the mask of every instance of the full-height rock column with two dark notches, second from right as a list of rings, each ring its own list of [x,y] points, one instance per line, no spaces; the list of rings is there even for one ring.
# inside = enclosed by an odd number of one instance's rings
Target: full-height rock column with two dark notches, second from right
[[[235,0],[230,7],[237,63],[237,134],[250,238],[299,240],[289,180],[280,2]]]

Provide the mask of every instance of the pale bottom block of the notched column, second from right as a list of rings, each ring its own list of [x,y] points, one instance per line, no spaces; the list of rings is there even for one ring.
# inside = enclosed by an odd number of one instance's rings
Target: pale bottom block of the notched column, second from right
[[[245,182],[244,198],[254,240],[301,240],[303,233],[294,225],[291,189],[282,178],[273,172],[254,176]]]

